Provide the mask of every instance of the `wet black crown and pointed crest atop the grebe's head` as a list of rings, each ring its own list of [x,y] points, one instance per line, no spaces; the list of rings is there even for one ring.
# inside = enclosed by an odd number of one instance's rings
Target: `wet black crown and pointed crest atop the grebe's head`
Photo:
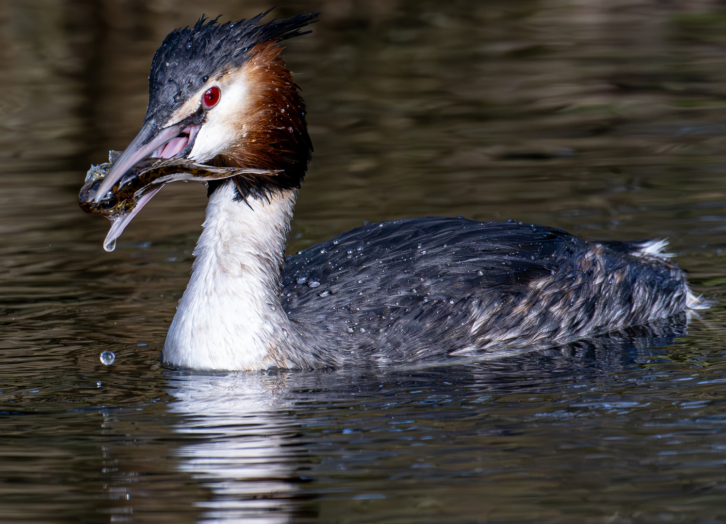
[[[171,31],[152,60],[147,119],[155,118],[162,123],[190,94],[201,89],[205,77],[213,78],[239,67],[257,44],[311,33],[303,28],[317,22],[315,18],[319,15],[301,13],[258,25],[271,10],[249,20],[224,24],[217,23],[219,17],[209,20],[202,16],[191,29],[187,26]]]

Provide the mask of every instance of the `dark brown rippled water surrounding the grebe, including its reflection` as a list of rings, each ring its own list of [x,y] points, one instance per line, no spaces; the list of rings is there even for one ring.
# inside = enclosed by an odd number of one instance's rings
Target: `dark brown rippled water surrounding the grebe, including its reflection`
[[[279,1],[316,152],[290,250],[419,215],[668,237],[726,298],[713,0]],[[208,376],[158,362],[205,190],[113,253],[76,198],[163,36],[267,1],[0,2],[0,521],[726,522],[726,315],[485,361]],[[675,337],[675,338],[674,338]],[[113,365],[99,361],[113,351]]]

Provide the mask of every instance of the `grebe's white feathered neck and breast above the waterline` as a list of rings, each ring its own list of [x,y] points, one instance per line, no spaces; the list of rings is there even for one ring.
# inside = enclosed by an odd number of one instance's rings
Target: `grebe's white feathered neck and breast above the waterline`
[[[294,335],[280,305],[295,196],[286,190],[236,202],[232,183],[213,192],[163,361],[192,369],[296,367],[289,359]]]

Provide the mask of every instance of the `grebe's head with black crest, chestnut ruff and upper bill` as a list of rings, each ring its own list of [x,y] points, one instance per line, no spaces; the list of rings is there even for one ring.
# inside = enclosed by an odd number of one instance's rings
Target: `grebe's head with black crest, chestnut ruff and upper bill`
[[[94,200],[148,157],[259,170],[234,177],[242,199],[300,187],[312,146],[303,99],[280,52],[282,41],[310,32],[302,29],[317,13],[258,25],[267,13],[221,25],[202,17],[168,34],[152,61],[141,131]],[[212,181],[210,192],[222,183]]]

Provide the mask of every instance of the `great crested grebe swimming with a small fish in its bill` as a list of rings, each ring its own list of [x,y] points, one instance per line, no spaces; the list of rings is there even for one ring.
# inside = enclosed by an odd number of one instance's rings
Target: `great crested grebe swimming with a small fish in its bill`
[[[166,37],[142,129],[94,193],[95,205],[113,200],[149,157],[242,170],[209,181],[166,364],[311,369],[542,348],[708,307],[664,241],[586,242],[516,221],[368,224],[285,261],[312,146],[281,43],[316,14],[260,24],[264,15],[202,18]],[[136,194],[107,241],[159,187]]]

